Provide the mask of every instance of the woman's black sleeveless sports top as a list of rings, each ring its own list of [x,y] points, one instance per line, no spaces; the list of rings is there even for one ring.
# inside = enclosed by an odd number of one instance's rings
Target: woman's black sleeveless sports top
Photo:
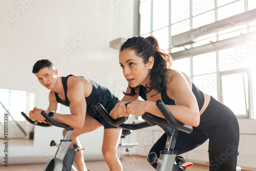
[[[143,100],[146,100],[146,94],[144,92],[144,89],[145,87],[144,86],[141,86],[140,87],[140,90],[139,90],[139,96],[143,99]],[[204,94],[202,91],[200,91],[196,86],[195,84],[192,82],[192,92],[194,93],[196,99],[197,99],[197,103],[198,103],[198,108],[199,108],[199,111],[203,108],[203,105],[204,105]],[[170,99],[168,96],[167,96],[167,93],[166,93],[166,87],[161,90],[161,96],[162,96],[162,100],[164,102],[164,104],[169,104],[169,105],[175,105],[175,101],[173,99]]]

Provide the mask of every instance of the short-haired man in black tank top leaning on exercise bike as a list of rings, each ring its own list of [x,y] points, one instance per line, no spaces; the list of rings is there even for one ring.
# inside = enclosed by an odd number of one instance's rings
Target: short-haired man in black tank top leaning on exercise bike
[[[71,147],[73,147],[73,143],[77,143],[79,148],[81,148],[81,145],[77,136],[91,132],[103,125],[103,157],[111,171],[122,170],[121,163],[116,154],[120,129],[106,122],[95,108],[97,103],[101,103],[110,112],[119,101],[118,98],[108,89],[92,80],[73,75],[60,77],[58,70],[47,59],[38,60],[32,72],[36,75],[39,82],[51,91],[49,94],[50,104],[47,111],[34,108],[29,112],[30,119],[44,122],[45,118],[41,115],[41,111],[45,111],[47,114],[51,112],[53,120],[74,127],[71,136]],[[71,115],[56,113],[58,103],[69,106]],[[79,171],[87,170],[82,151],[76,153],[74,162]]]

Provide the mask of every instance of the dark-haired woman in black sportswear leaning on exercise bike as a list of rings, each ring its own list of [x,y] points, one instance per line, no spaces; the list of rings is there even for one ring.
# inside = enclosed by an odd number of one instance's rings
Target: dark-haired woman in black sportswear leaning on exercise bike
[[[236,170],[239,125],[236,116],[224,104],[198,90],[184,73],[170,69],[172,58],[159,49],[155,37],[132,37],[120,48],[119,63],[129,86],[124,97],[111,111],[113,118],[141,116],[145,112],[163,115],[155,102],[162,99],[174,117],[193,126],[191,134],[180,132],[175,151],[178,155],[209,139],[209,170]],[[138,100],[138,97],[143,100]],[[131,102],[125,107],[125,103]],[[167,135],[152,147],[164,149]],[[156,168],[157,164],[152,164]]]

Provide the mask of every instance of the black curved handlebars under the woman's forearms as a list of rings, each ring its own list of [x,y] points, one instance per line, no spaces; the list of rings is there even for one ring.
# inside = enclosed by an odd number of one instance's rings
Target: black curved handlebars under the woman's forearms
[[[96,109],[99,111],[102,117],[111,125],[121,127],[122,129],[125,129],[125,130],[139,130],[139,129],[154,126],[154,125],[164,125],[164,126],[173,127],[174,129],[177,129],[186,133],[191,133],[193,131],[192,126],[185,125],[182,122],[175,119],[174,116],[169,112],[169,110],[167,109],[166,105],[163,103],[162,100],[157,100],[156,105],[160,110],[160,112],[165,117],[165,119],[154,116],[150,113],[144,113],[142,115],[142,119],[144,119],[145,122],[131,123],[131,124],[124,123],[128,117],[120,117],[118,119],[113,119],[108,114],[108,112],[105,111],[105,109],[100,103],[96,104]]]

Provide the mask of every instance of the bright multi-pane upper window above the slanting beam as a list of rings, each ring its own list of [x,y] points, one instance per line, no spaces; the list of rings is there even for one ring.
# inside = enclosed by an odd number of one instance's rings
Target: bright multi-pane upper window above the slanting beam
[[[223,20],[233,15],[238,15],[248,10],[253,10],[256,8],[256,3],[253,0],[216,0],[216,4],[215,1],[212,0],[140,1],[140,35],[157,35],[158,39],[160,38],[160,36],[175,36],[178,34],[185,33],[189,30],[200,28],[202,26],[215,24],[219,20]],[[233,30],[228,30],[227,28],[224,28],[224,26],[228,23],[230,24],[230,22],[224,22],[220,23],[220,26],[210,26],[209,28],[202,28],[201,30],[198,30],[196,34],[202,31],[204,32],[205,30],[209,31],[211,30],[211,28],[220,29],[219,27],[223,27],[223,29],[226,29],[228,33],[225,33],[225,31],[220,31],[217,32],[218,34],[216,34],[214,37],[211,37],[211,39],[207,40],[200,39],[200,37],[208,34],[202,36],[200,35],[198,37],[195,37],[195,39],[198,39],[195,42],[195,46],[193,45],[189,48],[209,44],[210,42],[216,41],[216,38],[219,40],[223,40],[233,36],[238,36],[240,34],[246,34],[248,32],[248,27],[250,32],[256,30],[255,24],[253,26],[241,26],[242,28],[240,28],[236,22],[234,22],[236,24]],[[159,33],[153,33],[165,27],[167,30],[160,31],[162,35],[159,35]],[[228,27],[232,28],[231,25]],[[194,34],[190,33],[187,33],[187,35],[184,34],[182,38],[191,38],[189,36],[192,36],[194,38]],[[172,45],[172,38],[166,39],[168,41],[165,40],[164,45],[167,42],[168,48],[177,48]],[[201,42],[199,43],[199,41]],[[190,41],[187,41],[187,43],[189,42]],[[165,48],[166,47],[162,47],[162,49]],[[170,52],[173,52],[173,50],[171,50]]]

